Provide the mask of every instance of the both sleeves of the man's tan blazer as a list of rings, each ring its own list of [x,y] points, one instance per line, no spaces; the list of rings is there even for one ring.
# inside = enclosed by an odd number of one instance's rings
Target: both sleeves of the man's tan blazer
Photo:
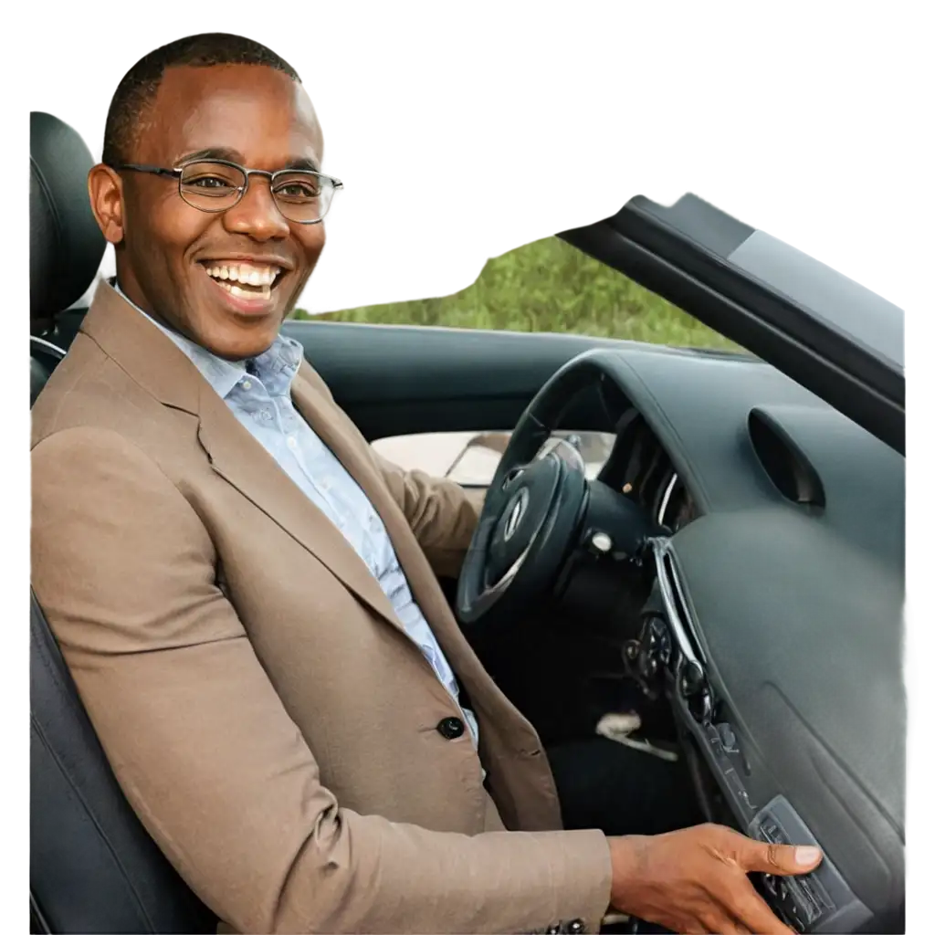
[[[431,542],[453,492],[393,481]],[[30,455],[32,578],[122,789],[194,892],[240,932],[519,932],[610,895],[597,831],[476,837],[341,808],[216,580],[193,505],[116,433]]]

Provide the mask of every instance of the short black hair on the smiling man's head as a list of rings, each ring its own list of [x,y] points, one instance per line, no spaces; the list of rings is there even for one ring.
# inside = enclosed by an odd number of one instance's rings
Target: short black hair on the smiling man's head
[[[110,84],[97,143],[102,163],[119,165],[130,158],[140,118],[152,103],[165,69],[177,65],[266,65],[302,80],[279,51],[250,33],[184,29],[164,36],[140,51]]]

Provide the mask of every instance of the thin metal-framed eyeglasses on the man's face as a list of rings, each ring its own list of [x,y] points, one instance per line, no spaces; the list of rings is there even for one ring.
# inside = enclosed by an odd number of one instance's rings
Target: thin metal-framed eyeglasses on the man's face
[[[245,169],[223,159],[194,159],[167,169],[159,165],[123,164],[116,171],[148,172],[151,175],[179,180],[182,200],[199,211],[216,213],[232,209],[246,194],[250,177],[269,180],[269,191],[276,207],[287,220],[299,224],[324,221],[331,209],[334,194],[344,185],[340,176],[325,175],[311,169]]]

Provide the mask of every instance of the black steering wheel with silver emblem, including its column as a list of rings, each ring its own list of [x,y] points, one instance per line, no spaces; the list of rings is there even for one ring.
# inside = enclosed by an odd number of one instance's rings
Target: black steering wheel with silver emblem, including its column
[[[589,556],[612,559],[622,574],[639,567],[647,540],[661,531],[639,503],[589,481],[567,443],[540,454],[575,397],[613,381],[613,360],[599,351],[573,358],[520,416],[458,580],[455,606],[466,632],[504,624],[556,593],[568,568]]]

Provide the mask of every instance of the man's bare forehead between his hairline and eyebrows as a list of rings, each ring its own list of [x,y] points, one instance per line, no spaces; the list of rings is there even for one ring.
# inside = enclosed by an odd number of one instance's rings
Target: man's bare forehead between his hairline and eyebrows
[[[165,163],[204,150],[237,153],[250,168],[317,161],[314,98],[266,65],[167,68],[138,143],[141,158]]]

